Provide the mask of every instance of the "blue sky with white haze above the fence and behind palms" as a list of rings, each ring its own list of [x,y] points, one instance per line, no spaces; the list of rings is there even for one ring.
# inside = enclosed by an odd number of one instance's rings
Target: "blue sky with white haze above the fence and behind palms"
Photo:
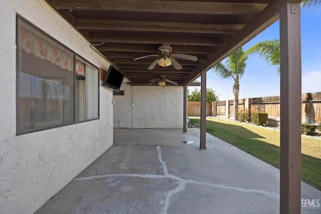
[[[243,50],[267,39],[279,39],[278,21],[245,44]],[[301,9],[301,47],[302,93],[321,91],[321,5]],[[257,55],[250,55],[246,63],[240,79],[240,99],[280,94],[280,76],[276,74],[276,68],[268,67]],[[201,81],[200,78],[197,80]],[[233,100],[233,84],[233,79],[223,80],[213,71],[207,72],[207,88],[216,90],[219,100]],[[194,88],[189,87],[189,91]]]

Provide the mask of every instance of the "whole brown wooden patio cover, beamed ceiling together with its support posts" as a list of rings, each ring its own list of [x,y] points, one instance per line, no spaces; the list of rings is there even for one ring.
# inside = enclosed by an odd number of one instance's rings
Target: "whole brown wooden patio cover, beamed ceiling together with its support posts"
[[[301,193],[301,0],[45,0],[114,66],[131,85],[147,85],[159,75],[187,86],[280,18],[280,213],[300,213]],[[295,4],[294,4],[295,3]],[[291,4],[291,5],[290,5]],[[148,66],[161,45],[198,57],[183,66]],[[157,84],[157,83],[155,83]],[[206,93],[202,93],[201,142],[206,149]],[[184,106],[183,132],[186,130]]]

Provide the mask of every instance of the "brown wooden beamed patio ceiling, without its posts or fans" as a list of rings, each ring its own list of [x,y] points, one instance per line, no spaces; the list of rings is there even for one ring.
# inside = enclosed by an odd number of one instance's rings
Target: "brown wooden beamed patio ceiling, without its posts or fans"
[[[45,0],[103,56],[122,71],[131,85],[147,85],[159,75],[187,85],[235,49],[278,20],[287,3],[298,0]],[[194,55],[183,66],[148,66],[158,47]],[[154,83],[152,85],[157,85]],[[171,85],[169,83],[169,85]]]

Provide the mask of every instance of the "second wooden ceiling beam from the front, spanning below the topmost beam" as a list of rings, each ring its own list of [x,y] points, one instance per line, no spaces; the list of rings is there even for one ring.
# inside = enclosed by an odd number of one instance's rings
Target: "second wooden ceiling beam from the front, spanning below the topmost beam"
[[[144,31],[197,34],[226,34],[241,30],[245,25],[138,22],[120,20],[76,20],[76,29]]]

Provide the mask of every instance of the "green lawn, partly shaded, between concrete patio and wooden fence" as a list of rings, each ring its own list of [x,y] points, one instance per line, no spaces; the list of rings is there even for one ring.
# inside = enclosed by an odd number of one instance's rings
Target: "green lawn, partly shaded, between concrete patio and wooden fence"
[[[200,127],[200,119],[190,118]],[[259,126],[207,118],[206,132],[280,168],[280,132]],[[301,138],[301,177],[305,183],[321,190],[321,139]]]

